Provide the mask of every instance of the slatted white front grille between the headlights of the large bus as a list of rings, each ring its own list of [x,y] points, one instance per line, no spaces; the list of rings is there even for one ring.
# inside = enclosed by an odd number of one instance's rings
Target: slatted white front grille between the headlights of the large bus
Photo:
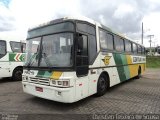
[[[49,79],[47,78],[30,77],[29,82],[41,85],[49,85]]]

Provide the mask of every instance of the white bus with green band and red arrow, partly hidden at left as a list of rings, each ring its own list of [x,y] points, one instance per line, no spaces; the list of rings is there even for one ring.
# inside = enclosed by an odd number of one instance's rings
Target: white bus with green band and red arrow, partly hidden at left
[[[0,78],[22,79],[25,48],[24,41],[0,40]]]

